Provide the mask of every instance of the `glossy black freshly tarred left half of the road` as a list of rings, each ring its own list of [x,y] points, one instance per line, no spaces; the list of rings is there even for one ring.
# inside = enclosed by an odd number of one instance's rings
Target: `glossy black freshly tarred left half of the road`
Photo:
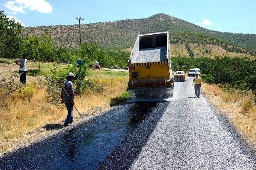
[[[6,153],[0,158],[0,169],[96,169],[102,163],[101,169],[127,169],[167,106],[168,102],[117,106],[42,141]],[[62,127],[48,124],[43,128]]]

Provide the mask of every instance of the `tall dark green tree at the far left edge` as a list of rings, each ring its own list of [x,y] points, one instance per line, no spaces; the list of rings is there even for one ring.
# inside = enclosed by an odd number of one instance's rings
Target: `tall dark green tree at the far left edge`
[[[0,11],[0,57],[18,58],[21,56],[22,26],[9,20],[4,11]]]

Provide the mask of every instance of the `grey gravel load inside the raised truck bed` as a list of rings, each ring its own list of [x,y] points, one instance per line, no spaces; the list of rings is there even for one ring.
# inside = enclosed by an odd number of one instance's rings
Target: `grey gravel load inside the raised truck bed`
[[[156,47],[141,49],[135,63],[148,63],[154,61],[165,61],[167,47]]]

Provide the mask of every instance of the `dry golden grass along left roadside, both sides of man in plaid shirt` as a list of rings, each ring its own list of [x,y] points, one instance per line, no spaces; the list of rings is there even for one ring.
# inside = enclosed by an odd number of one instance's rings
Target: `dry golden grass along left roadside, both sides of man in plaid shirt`
[[[76,96],[75,104],[81,112],[96,107],[107,109],[112,98],[126,91],[128,73],[107,72],[106,70],[90,70],[90,72],[89,78],[103,84],[105,90],[102,94],[84,92],[82,96]],[[1,152],[32,140],[33,138],[30,139],[27,134],[34,129],[42,128],[48,123],[64,121],[67,115],[66,108],[64,105],[58,108],[50,104],[46,99],[46,94],[43,87],[35,85],[34,82],[28,82],[24,90],[7,96],[4,101],[1,101]],[[76,119],[79,118],[76,111],[74,111],[74,116]]]

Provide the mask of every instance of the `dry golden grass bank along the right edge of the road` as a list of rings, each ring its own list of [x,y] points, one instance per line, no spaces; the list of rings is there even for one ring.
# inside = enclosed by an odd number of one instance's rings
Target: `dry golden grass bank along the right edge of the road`
[[[250,141],[256,142],[256,106],[252,93],[239,90],[224,90],[218,85],[206,84],[203,93],[210,101],[224,112],[235,127],[245,134]]]

